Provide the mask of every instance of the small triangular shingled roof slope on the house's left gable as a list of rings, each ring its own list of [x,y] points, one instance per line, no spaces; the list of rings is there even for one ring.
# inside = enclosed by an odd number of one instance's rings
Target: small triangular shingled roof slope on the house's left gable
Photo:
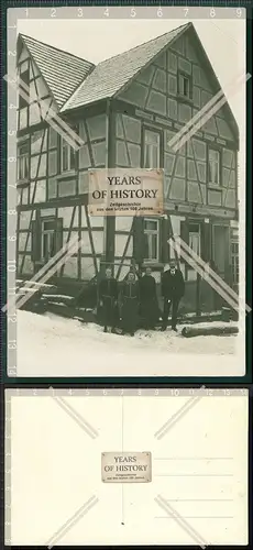
[[[95,67],[81,57],[25,34],[20,34],[19,41],[28,47],[59,109]]]

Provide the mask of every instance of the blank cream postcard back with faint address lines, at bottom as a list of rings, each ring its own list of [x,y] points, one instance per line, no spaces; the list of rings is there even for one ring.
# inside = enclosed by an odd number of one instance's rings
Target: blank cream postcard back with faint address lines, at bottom
[[[6,544],[246,546],[249,391],[6,391]]]

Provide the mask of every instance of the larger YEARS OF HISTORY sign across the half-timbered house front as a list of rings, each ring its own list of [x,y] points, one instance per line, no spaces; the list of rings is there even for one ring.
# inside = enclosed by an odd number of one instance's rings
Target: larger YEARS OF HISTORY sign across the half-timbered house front
[[[89,170],[90,216],[157,216],[164,212],[164,170]]]

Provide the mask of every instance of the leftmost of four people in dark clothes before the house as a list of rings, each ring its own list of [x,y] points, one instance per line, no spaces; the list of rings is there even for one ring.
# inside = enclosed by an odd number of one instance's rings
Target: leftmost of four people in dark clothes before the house
[[[102,307],[103,332],[111,328],[114,332],[117,323],[117,307],[118,307],[118,283],[112,277],[110,267],[106,270],[106,278],[100,282],[99,302]]]

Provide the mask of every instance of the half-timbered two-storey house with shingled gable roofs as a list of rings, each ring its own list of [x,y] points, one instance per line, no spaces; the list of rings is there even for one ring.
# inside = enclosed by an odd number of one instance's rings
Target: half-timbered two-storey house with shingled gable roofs
[[[132,262],[151,264],[160,282],[182,238],[232,287],[239,278],[239,130],[226,103],[178,152],[168,141],[220,90],[191,23],[94,64],[29,36],[18,38],[18,69],[45,105],[79,133],[75,151],[46,122],[40,103],[19,98],[18,275],[31,277],[74,234],[84,245],[58,283],[97,277],[112,262],[119,279]],[[91,167],[163,167],[165,213],[98,218],[87,210]],[[196,307],[196,272],[178,258],[185,307]],[[202,309],[213,292],[201,282]]]

